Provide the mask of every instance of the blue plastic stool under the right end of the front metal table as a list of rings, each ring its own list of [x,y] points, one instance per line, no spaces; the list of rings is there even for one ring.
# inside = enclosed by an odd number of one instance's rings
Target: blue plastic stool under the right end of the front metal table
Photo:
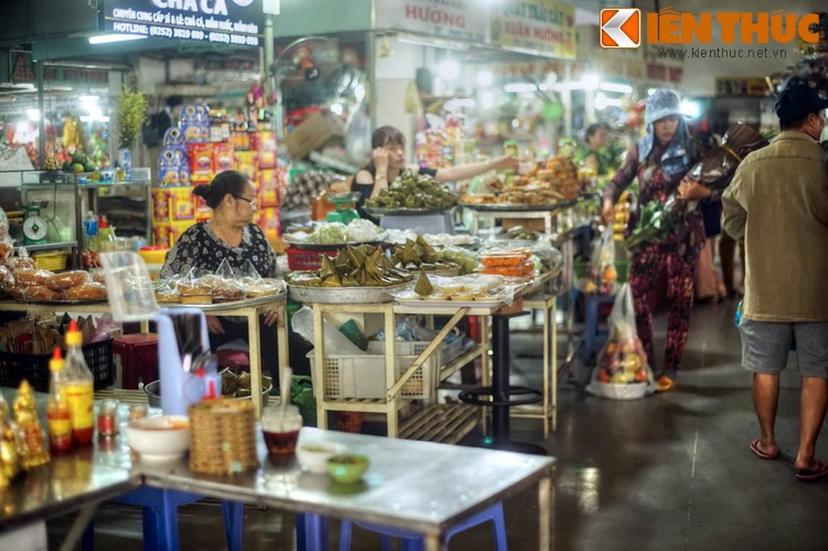
[[[506,551],[506,520],[503,519],[503,503],[492,505],[489,509],[482,510],[477,515],[471,516],[469,519],[451,526],[445,531],[445,542],[448,543],[451,536],[473,526],[482,525],[489,520],[493,522],[494,549],[497,551]],[[383,551],[391,551],[392,538],[400,538],[402,540],[402,551],[425,551],[426,549],[426,539],[419,532],[364,522],[354,522],[353,520],[342,520],[342,529],[339,533],[339,551],[349,551],[351,549],[351,529],[353,525],[381,534],[383,537]]]

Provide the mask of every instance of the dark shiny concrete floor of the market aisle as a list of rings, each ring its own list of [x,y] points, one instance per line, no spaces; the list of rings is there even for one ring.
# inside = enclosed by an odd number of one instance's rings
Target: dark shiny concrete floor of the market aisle
[[[782,455],[763,461],[748,448],[758,424],[750,376],[739,367],[734,307],[731,301],[696,308],[679,386],[671,393],[619,402],[561,385],[558,430],[544,443],[559,460],[556,549],[828,549],[828,480],[806,484],[794,478],[796,356],[782,378]],[[522,355],[537,350],[537,339],[513,336],[513,382],[537,379],[539,359]],[[828,459],[826,432],[817,445],[822,460]],[[513,434],[541,443],[536,421],[513,421]],[[506,502],[510,549],[537,549],[536,504],[534,492]],[[51,549],[70,520],[49,523]],[[251,507],[244,522],[244,549],[295,549],[292,515]],[[181,508],[180,526],[181,549],[224,548],[217,503]],[[337,534],[333,522],[330,549],[337,549]],[[142,549],[140,510],[104,505],[95,536],[96,549]],[[352,549],[380,549],[379,539],[355,528]],[[450,549],[493,549],[489,529],[458,534]]]

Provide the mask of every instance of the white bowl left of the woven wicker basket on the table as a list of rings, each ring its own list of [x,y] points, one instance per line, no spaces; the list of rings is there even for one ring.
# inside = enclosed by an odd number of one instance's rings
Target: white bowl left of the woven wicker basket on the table
[[[142,461],[181,458],[190,449],[190,419],[186,415],[134,419],[127,425],[127,439]]]

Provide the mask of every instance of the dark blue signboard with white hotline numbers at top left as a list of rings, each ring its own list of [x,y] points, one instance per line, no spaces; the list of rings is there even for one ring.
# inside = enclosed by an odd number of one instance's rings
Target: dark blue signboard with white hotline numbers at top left
[[[106,0],[105,29],[128,35],[260,46],[262,0]]]

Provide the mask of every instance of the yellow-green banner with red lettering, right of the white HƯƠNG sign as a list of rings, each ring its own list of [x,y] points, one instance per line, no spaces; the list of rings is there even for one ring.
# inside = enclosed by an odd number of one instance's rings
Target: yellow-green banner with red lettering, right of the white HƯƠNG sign
[[[489,8],[491,43],[575,59],[575,6],[559,0],[503,0]]]

